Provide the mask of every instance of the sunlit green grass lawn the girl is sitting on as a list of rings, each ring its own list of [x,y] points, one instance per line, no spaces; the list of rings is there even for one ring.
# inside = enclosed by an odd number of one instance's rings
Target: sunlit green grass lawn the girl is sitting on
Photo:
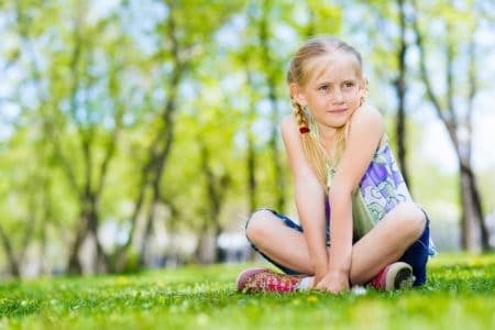
[[[4,282],[0,329],[495,329],[494,254],[441,254],[426,286],[364,295],[238,294],[244,267]]]

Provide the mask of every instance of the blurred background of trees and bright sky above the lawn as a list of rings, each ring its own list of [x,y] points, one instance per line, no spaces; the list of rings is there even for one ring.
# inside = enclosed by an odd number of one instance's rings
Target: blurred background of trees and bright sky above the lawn
[[[367,102],[442,251],[495,245],[492,0],[0,1],[0,277],[255,257],[297,218],[278,123],[309,36],[358,48]]]

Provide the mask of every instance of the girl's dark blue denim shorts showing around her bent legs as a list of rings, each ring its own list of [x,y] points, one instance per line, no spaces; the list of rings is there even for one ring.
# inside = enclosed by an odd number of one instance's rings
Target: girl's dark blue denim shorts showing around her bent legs
[[[271,211],[273,215],[275,215],[280,221],[284,222],[285,226],[287,226],[290,229],[294,229],[298,232],[302,232],[302,227],[293,220],[290,220],[288,217],[280,215],[272,209],[264,209],[267,211]],[[428,244],[430,240],[430,220],[428,218],[428,215],[425,212],[425,216],[427,218],[425,230],[422,231],[421,237],[414,242],[407,250],[404,252],[403,256],[398,261],[405,262],[409,264],[413,267],[413,274],[415,275],[415,283],[414,286],[419,286],[425,284],[426,282],[426,265],[428,262],[429,253],[428,253]],[[248,228],[248,224],[250,223],[251,218],[245,223],[245,227]],[[327,222],[328,223],[328,222]],[[251,240],[248,238],[248,241],[251,243],[251,246],[258,252],[264,258],[266,258],[268,262],[280,268],[282,272],[289,275],[300,275],[299,272],[296,272],[294,270],[287,268],[280,264],[277,264],[273,260],[271,260],[267,255],[265,255],[263,252],[257,249],[256,245],[251,242]],[[327,227],[327,246],[330,246],[330,235],[329,230]]]

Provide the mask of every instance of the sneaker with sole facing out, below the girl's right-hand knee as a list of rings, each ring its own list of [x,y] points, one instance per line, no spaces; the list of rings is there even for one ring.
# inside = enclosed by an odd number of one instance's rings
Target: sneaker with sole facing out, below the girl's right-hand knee
[[[370,285],[378,290],[395,290],[410,288],[414,282],[413,267],[406,263],[396,262],[383,268],[370,282]]]

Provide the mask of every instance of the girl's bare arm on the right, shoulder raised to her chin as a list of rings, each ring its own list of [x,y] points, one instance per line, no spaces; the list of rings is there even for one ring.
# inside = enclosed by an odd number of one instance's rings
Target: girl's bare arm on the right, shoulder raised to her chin
[[[329,268],[319,287],[340,292],[349,287],[352,255],[352,193],[370,166],[383,135],[382,117],[371,107],[358,109],[345,151],[329,190],[331,246]]]

